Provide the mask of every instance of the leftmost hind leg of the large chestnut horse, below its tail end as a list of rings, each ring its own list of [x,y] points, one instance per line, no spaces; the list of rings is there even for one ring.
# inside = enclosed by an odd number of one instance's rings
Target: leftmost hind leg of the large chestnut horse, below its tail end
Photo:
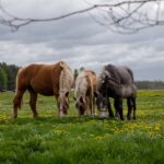
[[[21,108],[24,92],[25,90],[17,90],[13,98],[13,118],[17,118],[17,108]]]

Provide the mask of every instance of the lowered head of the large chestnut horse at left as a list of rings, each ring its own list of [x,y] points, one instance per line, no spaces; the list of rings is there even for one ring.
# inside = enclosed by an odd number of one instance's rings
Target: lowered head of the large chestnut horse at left
[[[69,92],[60,93],[58,98],[59,116],[63,117],[68,114],[69,108]]]

